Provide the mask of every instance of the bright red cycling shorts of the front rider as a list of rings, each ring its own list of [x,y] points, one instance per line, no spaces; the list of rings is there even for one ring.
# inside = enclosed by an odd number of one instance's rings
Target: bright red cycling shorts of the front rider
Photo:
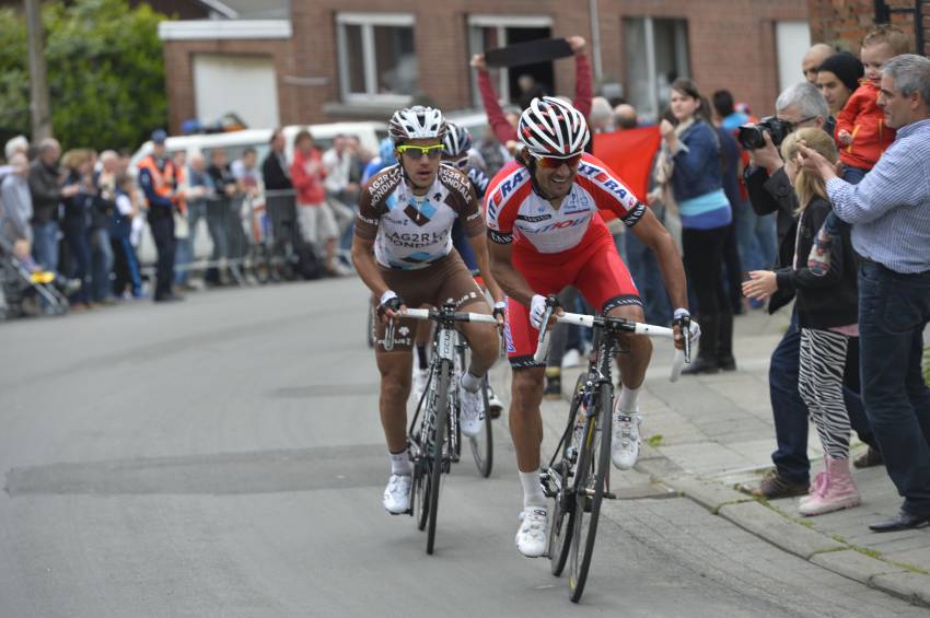
[[[558,254],[537,254],[514,247],[512,260],[537,294],[558,294],[566,285],[573,285],[601,314],[624,305],[642,306],[636,283],[606,230],[586,250],[576,247]],[[513,299],[507,300],[504,338],[511,366],[540,366],[533,361],[539,331],[530,324],[530,310]]]

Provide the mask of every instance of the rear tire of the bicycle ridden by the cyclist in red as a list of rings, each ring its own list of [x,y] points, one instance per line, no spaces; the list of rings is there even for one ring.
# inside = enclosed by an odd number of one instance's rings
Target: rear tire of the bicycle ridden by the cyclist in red
[[[569,490],[570,473],[574,471],[574,466],[569,456],[569,448],[572,446],[578,408],[581,407],[583,385],[586,381],[588,374],[582,373],[578,376],[571,404],[568,408],[567,434],[562,443],[561,458],[555,464],[557,469],[549,471],[549,474],[558,474],[561,477],[559,483],[561,490],[554,497],[553,512],[549,517],[549,569],[557,578],[562,574],[565,563],[568,561],[571,533],[574,529],[574,492]]]

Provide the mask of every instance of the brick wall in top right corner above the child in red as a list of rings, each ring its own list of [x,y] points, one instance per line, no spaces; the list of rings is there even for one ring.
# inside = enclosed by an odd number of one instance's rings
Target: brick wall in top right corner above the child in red
[[[914,37],[915,53],[930,55],[930,0],[810,0],[809,9],[814,42],[858,56],[869,28],[891,22]]]

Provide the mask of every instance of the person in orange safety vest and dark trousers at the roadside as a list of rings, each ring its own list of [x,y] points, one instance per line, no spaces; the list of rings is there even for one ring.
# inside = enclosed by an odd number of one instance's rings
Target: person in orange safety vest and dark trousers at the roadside
[[[149,230],[159,252],[154,300],[156,303],[181,301],[183,296],[172,291],[174,281],[174,208],[177,174],[174,163],[165,152],[167,133],[162,129],[152,132],[152,154],[139,163],[139,185],[149,206]]]

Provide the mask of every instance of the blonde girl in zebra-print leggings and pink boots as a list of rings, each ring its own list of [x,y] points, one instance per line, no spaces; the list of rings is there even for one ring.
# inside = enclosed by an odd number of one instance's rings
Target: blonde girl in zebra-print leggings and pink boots
[[[797,291],[798,325],[801,328],[801,366],[798,390],[807,405],[824,448],[826,469],[817,475],[810,493],[801,498],[802,515],[819,515],[856,506],[859,491],[849,470],[849,413],[842,399],[842,374],[849,338],[858,331],[857,257],[849,231],[837,238],[829,271],[818,277],[807,269],[807,252],[818,226],[830,212],[824,182],[800,170],[798,144],[804,143],[828,161],[839,159],[833,138],[821,129],[800,129],[781,144],[784,171],[794,184],[801,205],[794,264],[776,272],[756,270],[743,291],[766,298],[777,289]],[[823,279],[823,280],[821,280]]]

